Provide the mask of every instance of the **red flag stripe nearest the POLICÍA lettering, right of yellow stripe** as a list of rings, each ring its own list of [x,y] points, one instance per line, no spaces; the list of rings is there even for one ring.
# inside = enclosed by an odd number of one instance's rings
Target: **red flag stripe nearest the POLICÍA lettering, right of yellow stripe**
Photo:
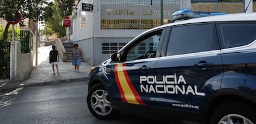
[[[125,68],[125,67],[126,67],[126,64],[123,65],[123,68]],[[134,94],[136,101],[137,101],[139,104],[146,105],[146,104],[142,101],[142,99],[140,98],[140,95],[139,95],[139,93],[137,92],[137,90],[135,90],[134,85],[132,85],[132,82],[130,81],[130,78],[129,78],[129,75],[128,75],[126,69],[123,69],[123,70],[124,70],[124,75],[126,76],[127,83],[128,83],[128,85],[129,85],[129,87],[130,87],[130,90],[132,90],[132,93]]]

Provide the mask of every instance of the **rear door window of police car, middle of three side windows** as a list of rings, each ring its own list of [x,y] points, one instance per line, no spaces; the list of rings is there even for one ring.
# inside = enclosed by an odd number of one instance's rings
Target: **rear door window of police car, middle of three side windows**
[[[175,26],[171,30],[166,55],[181,55],[219,49],[214,24]]]

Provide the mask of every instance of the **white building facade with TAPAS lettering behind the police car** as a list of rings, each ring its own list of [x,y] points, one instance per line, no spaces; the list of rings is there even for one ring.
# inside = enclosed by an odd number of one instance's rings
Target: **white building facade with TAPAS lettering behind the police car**
[[[85,10],[85,4],[93,10]],[[190,7],[190,0],[164,0],[163,24],[175,10]],[[70,18],[72,42],[82,48],[88,64],[97,65],[135,36],[161,25],[161,0],[81,0]]]

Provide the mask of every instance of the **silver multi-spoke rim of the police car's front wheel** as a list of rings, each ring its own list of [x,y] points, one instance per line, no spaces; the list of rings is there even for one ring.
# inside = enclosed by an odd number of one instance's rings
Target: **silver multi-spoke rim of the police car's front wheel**
[[[96,90],[91,97],[92,109],[96,114],[105,116],[112,111],[111,102],[109,101],[108,92],[105,90]]]

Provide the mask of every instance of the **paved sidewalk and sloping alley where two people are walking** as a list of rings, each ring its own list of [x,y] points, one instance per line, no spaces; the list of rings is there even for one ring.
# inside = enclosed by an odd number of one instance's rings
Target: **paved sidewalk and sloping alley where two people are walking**
[[[41,85],[51,85],[56,83],[68,83],[68,82],[78,82],[87,81],[91,66],[84,61],[80,65],[80,72],[74,72],[74,66],[72,62],[62,62],[61,58],[59,61],[59,75],[51,74],[53,69],[51,64],[49,64],[48,56],[50,46],[43,46],[38,48],[38,66],[33,67],[30,78],[26,80],[20,80],[17,82],[0,82],[0,90],[18,88],[18,87],[35,87]]]

